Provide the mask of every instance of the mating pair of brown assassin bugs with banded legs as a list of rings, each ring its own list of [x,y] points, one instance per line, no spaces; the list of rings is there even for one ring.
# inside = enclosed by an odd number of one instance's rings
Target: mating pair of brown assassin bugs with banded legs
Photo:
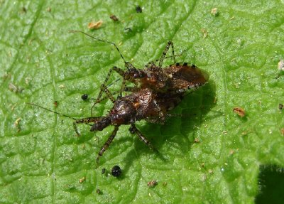
[[[93,117],[92,109],[91,117],[82,119],[75,119],[65,114],[54,112],[55,114],[74,119],[73,127],[77,136],[80,136],[80,133],[77,130],[76,124],[92,124],[90,131],[102,131],[109,125],[114,126],[114,131],[112,131],[109,139],[107,139],[99,150],[97,163],[99,163],[99,158],[104,154],[104,151],[109,148],[109,145],[116,136],[116,132],[122,124],[129,124],[131,126],[129,128],[131,134],[136,134],[143,143],[151,149],[154,149],[148,139],[146,139],[141,131],[136,128],[135,122],[145,119],[147,122],[163,124],[167,117],[174,115],[168,114],[168,111],[176,107],[182,100],[182,97],[188,92],[196,90],[198,87],[204,85],[208,80],[207,73],[200,70],[195,65],[176,63],[173,43],[171,41],[168,41],[160,59],[151,61],[146,64],[143,69],[137,69],[131,63],[126,62],[115,43],[90,36],[82,31],[70,32],[83,33],[96,41],[114,45],[116,50],[119,51],[122,60],[124,60],[126,67],[126,70],[117,67],[113,67],[109,70],[106,79],[100,87],[99,95],[92,105],[93,109],[95,104],[102,102],[103,100],[111,100],[111,102],[114,103],[114,106],[106,116]],[[173,55],[166,57],[170,48],[172,48]],[[173,58],[173,65],[163,68],[163,61],[165,58]],[[119,92],[117,92],[117,97],[114,97],[107,85],[113,71],[122,77],[121,88]],[[133,86],[129,87],[129,84],[132,84]],[[124,96],[122,95],[123,93]],[[46,109],[37,104],[32,105]],[[53,112],[50,109],[46,110]]]

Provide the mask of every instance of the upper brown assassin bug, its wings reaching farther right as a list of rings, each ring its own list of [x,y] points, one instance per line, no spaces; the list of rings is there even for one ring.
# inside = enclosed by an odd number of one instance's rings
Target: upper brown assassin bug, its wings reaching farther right
[[[118,50],[119,54],[121,55],[122,60],[124,60],[124,65],[126,67],[126,71],[122,70],[121,68],[117,68],[116,66],[109,70],[107,77],[101,85],[99,95],[97,96],[97,99],[91,108],[91,115],[94,105],[102,102],[102,100],[109,98],[112,102],[114,102],[114,97],[111,95],[111,92],[109,92],[107,87],[107,82],[109,81],[109,77],[113,71],[121,75],[123,80],[121,88],[118,92],[119,96],[121,96],[123,91],[136,92],[143,88],[150,88],[155,92],[185,92],[187,90],[195,90],[201,85],[204,85],[204,83],[208,80],[207,73],[205,73],[203,70],[200,70],[195,65],[189,65],[189,63],[176,63],[173,42],[171,41],[168,41],[160,59],[147,63],[143,69],[137,69],[131,63],[126,62],[124,56],[121,54],[115,43],[90,36],[88,33],[84,33],[83,31],[70,32],[83,33],[94,40],[114,45],[116,50]],[[167,58],[166,54],[170,48],[172,48],[173,53],[170,58],[173,58],[174,63],[173,65],[163,68],[163,61],[165,58]],[[158,63],[158,65],[155,65],[155,63]],[[204,76],[203,80],[200,79],[201,75]],[[132,82],[134,87],[126,87],[126,82]],[[107,97],[102,97],[103,93],[105,93]]]

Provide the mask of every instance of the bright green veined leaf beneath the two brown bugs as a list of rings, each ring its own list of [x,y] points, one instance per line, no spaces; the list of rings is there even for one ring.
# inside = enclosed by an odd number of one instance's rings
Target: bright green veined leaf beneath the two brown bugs
[[[253,203],[259,167],[284,166],[278,109],[284,103],[278,70],[283,1],[0,5],[0,203]],[[102,27],[88,31],[87,24],[100,19]],[[137,68],[160,58],[173,41],[180,62],[207,70],[209,83],[174,110],[191,117],[170,118],[164,126],[137,124],[163,158],[124,126],[96,169],[97,152],[113,127],[90,133],[80,125],[77,137],[72,119],[26,104],[89,117],[92,102],[81,95],[96,97],[109,69],[124,68],[114,46],[70,30],[116,43]],[[111,81],[118,78],[114,74]],[[245,109],[245,117],[235,107]],[[110,108],[104,102],[94,114]],[[109,175],[114,165],[122,168],[120,178]],[[152,180],[158,182],[154,188],[147,186]]]

